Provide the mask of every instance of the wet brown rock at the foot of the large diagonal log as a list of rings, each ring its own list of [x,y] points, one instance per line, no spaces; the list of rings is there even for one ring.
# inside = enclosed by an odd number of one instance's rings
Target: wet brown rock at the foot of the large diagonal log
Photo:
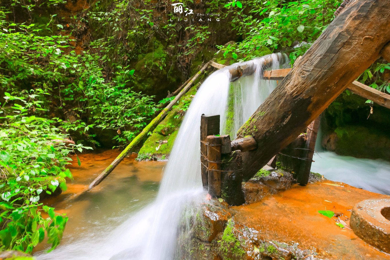
[[[265,196],[289,189],[295,183],[293,175],[287,171],[263,171],[263,173],[264,175],[258,173],[254,178],[243,183],[245,203],[260,201]]]

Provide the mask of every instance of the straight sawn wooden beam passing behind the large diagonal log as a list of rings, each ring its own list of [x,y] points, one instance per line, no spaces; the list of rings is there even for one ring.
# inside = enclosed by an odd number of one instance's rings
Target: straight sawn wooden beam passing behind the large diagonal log
[[[280,80],[280,78],[284,78],[291,71],[291,69],[274,69],[264,71],[264,78],[269,80]],[[347,89],[359,95],[363,98],[367,98],[382,107],[386,107],[390,109],[390,95],[383,93],[379,90],[373,89],[363,83],[358,81],[354,81],[351,84],[348,84]]]

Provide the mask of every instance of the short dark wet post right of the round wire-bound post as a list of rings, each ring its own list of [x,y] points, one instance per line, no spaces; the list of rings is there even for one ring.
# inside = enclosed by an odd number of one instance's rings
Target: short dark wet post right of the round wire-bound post
[[[245,196],[242,190],[242,155],[240,150],[231,154],[222,155],[222,188],[221,197],[230,206],[238,206],[245,203]]]

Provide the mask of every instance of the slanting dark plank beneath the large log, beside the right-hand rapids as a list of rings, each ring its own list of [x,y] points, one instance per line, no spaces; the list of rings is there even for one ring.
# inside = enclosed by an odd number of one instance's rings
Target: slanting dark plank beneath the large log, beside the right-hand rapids
[[[297,182],[300,185],[307,185],[310,176],[310,169],[312,167],[312,160],[314,155],[314,147],[316,146],[317,134],[319,125],[321,122],[321,116],[314,120],[307,128],[305,150],[303,150],[303,158],[306,160],[301,163],[301,167],[298,173]]]

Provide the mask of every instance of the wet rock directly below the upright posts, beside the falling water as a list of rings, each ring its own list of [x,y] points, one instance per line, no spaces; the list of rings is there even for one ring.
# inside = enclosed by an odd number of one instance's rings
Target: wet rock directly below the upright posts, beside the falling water
[[[223,232],[231,214],[227,210],[206,204],[198,213],[193,227],[193,236],[202,241],[211,242],[218,233]]]

